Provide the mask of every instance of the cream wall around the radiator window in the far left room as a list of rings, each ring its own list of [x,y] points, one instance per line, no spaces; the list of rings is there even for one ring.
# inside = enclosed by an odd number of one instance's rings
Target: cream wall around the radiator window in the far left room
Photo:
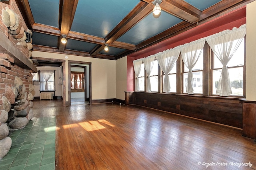
[[[62,85],[58,85],[59,81],[59,67],[37,67],[37,70],[55,70],[55,96],[62,96]],[[40,97],[40,85],[34,85],[32,94],[34,97]]]

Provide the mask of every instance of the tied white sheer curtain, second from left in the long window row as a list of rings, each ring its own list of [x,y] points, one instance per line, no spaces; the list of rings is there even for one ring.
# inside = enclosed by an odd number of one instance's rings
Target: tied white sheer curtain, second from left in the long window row
[[[155,55],[150,55],[150,56],[144,58],[143,61],[144,61],[144,66],[145,66],[145,70],[147,73],[147,85],[148,86],[146,88],[146,92],[151,92],[150,73],[151,73],[153,65],[154,65]]]

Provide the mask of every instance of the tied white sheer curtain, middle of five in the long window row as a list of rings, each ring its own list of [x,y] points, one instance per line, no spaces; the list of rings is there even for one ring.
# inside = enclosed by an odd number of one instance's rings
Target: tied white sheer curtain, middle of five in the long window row
[[[169,80],[169,72],[174,67],[174,64],[176,63],[178,57],[180,54],[180,49],[175,47],[173,49],[169,49],[166,51],[163,51],[162,53],[156,54],[156,59],[158,61],[158,64],[160,68],[163,70],[165,76],[164,76],[164,84],[163,84],[163,92],[168,93],[171,90],[170,86],[170,80]]]

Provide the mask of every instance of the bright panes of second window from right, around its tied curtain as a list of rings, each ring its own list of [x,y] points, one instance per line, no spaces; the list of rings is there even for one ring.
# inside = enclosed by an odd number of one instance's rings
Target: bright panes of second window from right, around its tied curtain
[[[199,50],[198,50],[199,51]],[[203,93],[203,63],[204,53],[203,50],[196,62],[195,66],[192,69],[193,72],[193,80],[192,80],[192,87],[194,89],[194,94],[202,94]],[[187,81],[188,81],[188,67],[183,64],[184,72],[183,75],[183,93],[186,93],[187,88]]]

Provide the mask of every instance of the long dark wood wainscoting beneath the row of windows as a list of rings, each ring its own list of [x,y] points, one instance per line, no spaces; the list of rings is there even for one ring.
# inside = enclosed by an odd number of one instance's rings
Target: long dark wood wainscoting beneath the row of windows
[[[135,104],[241,129],[243,127],[240,98],[147,92],[125,93],[127,105]]]

